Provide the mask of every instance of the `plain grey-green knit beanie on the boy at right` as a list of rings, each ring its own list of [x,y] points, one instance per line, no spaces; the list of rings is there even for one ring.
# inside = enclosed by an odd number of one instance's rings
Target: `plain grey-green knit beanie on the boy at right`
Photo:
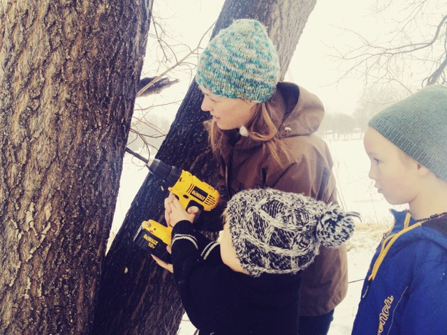
[[[369,126],[447,181],[447,87],[420,89],[376,114]]]

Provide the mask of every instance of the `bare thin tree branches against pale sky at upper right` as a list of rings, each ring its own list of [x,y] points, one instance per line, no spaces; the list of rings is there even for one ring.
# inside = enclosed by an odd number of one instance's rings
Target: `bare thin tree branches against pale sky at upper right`
[[[378,0],[374,15],[382,17],[390,31],[376,40],[358,37],[360,46],[338,50],[338,59],[349,64],[346,75],[356,72],[367,86],[402,86],[409,93],[411,82],[418,86],[447,84],[447,1]]]

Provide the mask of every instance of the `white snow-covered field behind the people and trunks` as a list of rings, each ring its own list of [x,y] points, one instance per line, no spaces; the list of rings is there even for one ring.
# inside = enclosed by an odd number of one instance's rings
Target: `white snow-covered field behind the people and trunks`
[[[334,161],[334,172],[339,191],[339,202],[349,211],[358,211],[362,222],[356,221],[356,231],[346,243],[349,262],[349,288],[346,299],[335,309],[330,335],[351,334],[356,315],[362,279],[365,277],[369,261],[383,232],[392,223],[390,205],[376,193],[374,184],[368,178],[369,159],[363,149],[361,139],[326,140]],[[135,165],[130,156],[124,159],[124,168],[117,200],[112,233],[117,232],[133,197],[147,175],[147,169]],[[180,325],[179,335],[192,335],[195,328],[187,320]]]

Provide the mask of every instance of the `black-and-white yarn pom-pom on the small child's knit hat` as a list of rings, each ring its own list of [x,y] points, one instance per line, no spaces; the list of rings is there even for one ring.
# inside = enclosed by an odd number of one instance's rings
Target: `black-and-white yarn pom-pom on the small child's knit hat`
[[[337,204],[328,204],[316,225],[316,238],[323,246],[340,246],[354,232],[353,216],[359,217],[359,214],[344,211]]]

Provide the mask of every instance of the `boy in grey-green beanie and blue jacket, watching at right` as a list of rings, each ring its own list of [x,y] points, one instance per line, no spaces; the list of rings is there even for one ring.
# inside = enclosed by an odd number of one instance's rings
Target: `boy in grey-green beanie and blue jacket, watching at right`
[[[447,87],[421,89],[369,121],[369,177],[395,224],[372,259],[352,334],[447,334]]]

